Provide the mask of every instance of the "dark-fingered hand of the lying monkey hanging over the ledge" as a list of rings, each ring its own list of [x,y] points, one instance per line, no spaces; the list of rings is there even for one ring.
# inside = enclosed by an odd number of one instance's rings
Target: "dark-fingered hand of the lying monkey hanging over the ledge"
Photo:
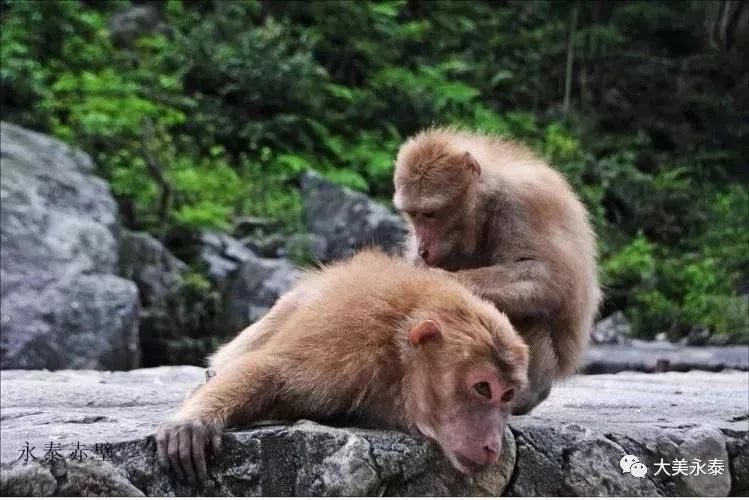
[[[224,424],[218,420],[175,417],[156,433],[159,464],[179,481],[198,486],[208,479],[206,455],[217,456]]]

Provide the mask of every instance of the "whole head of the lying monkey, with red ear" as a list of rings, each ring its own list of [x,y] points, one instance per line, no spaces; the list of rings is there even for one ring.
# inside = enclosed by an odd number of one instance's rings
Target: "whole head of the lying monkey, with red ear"
[[[496,310],[453,311],[411,331],[417,348],[415,424],[466,474],[496,463],[515,394],[526,382],[527,346]]]

